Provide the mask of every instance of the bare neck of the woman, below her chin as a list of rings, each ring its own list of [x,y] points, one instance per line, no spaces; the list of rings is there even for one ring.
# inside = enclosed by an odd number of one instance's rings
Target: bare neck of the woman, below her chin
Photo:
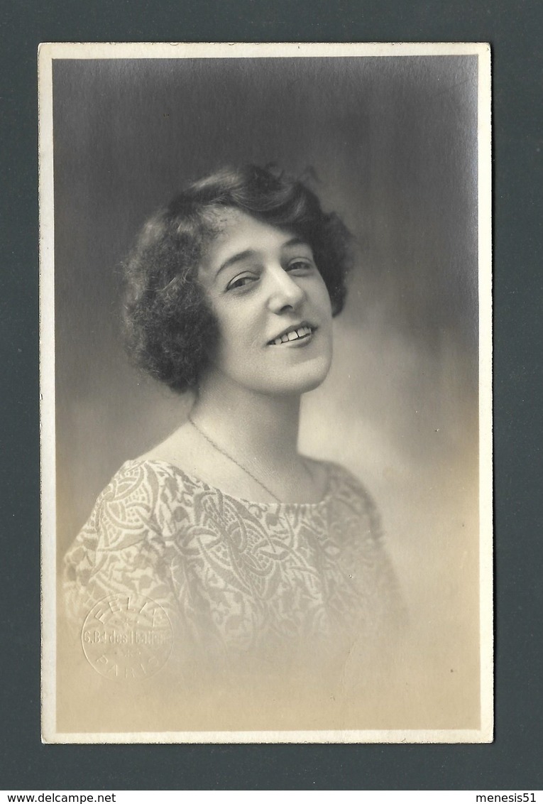
[[[271,472],[295,468],[300,461],[300,396],[268,396],[210,380],[190,418],[239,461]]]

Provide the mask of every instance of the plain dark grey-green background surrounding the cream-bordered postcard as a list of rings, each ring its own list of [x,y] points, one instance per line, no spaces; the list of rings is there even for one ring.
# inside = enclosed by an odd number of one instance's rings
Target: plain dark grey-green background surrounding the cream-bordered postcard
[[[2,17],[2,781],[30,789],[541,786],[541,6],[528,2],[4,3]],[[496,743],[489,746],[39,745],[35,51],[44,40],[489,40],[495,85]],[[536,387],[534,388],[534,381]],[[122,769],[129,762],[130,778]],[[122,773],[122,775],[120,775]]]

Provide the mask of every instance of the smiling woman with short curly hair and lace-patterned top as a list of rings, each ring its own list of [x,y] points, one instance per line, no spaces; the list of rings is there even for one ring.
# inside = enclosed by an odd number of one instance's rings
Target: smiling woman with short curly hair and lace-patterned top
[[[382,670],[393,643],[401,605],[374,504],[341,466],[297,450],[300,397],[332,360],[349,240],[303,183],[247,166],[187,187],[126,261],[129,353],[194,404],[100,494],[65,591],[79,627],[100,614],[89,645],[111,646],[104,611],[120,598],[159,606],[171,653],[158,669],[145,654],[138,672],[157,670],[169,694],[187,677],[206,695],[218,679],[269,693],[300,674],[344,689],[353,657],[358,675]],[[127,672],[122,639],[98,653],[101,675]]]

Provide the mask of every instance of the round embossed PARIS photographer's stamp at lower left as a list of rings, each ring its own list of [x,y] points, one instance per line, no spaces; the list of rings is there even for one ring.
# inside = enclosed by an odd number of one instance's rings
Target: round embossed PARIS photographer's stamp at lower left
[[[173,638],[162,606],[137,594],[104,597],[88,613],[81,631],[89,664],[116,681],[157,673],[169,657]]]

